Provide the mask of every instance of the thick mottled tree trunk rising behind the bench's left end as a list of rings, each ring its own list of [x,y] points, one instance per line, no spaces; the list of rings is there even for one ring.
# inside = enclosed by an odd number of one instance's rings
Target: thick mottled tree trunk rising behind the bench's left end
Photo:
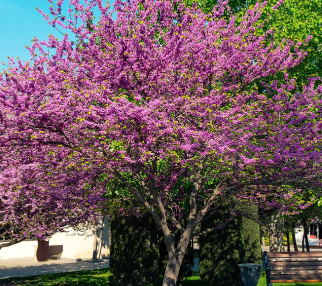
[[[285,251],[282,229],[281,217],[277,213],[273,214],[268,229],[269,251]]]

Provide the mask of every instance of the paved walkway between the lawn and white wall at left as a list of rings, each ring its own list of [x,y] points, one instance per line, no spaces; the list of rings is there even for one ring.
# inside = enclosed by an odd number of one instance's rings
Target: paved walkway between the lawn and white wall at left
[[[34,260],[21,260],[12,262],[0,262],[0,279],[17,276],[41,275],[47,273],[101,269],[108,266],[108,261],[74,262],[69,260],[49,260],[45,262],[36,262]]]

